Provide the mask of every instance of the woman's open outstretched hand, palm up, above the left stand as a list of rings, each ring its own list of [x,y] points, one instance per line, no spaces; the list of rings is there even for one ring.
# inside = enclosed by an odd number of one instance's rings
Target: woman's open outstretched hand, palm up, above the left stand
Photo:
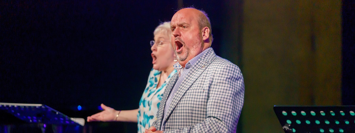
[[[116,119],[116,115],[118,113],[117,110],[112,109],[108,106],[105,106],[104,104],[101,104],[101,107],[104,111],[96,113],[92,116],[88,116],[87,117],[87,121],[88,122],[92,122],[92,121],[115,121]]]

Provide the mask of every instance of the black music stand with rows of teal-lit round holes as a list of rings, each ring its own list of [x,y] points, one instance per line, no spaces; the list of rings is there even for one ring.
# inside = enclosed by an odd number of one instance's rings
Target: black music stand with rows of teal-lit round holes
[[[354,133],[355,106],[274,106],[285,133]]]

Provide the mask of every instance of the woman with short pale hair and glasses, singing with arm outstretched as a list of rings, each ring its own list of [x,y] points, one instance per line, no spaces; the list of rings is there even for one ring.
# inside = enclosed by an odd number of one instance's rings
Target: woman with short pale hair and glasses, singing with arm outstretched
[[[173,67],[176,63],[176,56],[171,47],[170,22],[160,24],[155,28],[153,34],[154,40],[150,42],[153,68],[149,74],[147,86],[139,102],[139,108],[135,110],[118,111],[101,104],[104,111],[88,116],[88,122],[137,122],[138,133],[142,133],[157,120],[156,113],[160,101],[163,98],[165,85],[168,83],[170,77],[176,73]]]

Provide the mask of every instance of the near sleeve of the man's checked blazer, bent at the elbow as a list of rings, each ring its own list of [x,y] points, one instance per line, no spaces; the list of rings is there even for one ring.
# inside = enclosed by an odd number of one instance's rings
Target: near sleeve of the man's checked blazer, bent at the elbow
[[[235,133],[244,104],[244,79],[233,63],[215,70],[207,100],[207,118],[190,127],[164,133]]]

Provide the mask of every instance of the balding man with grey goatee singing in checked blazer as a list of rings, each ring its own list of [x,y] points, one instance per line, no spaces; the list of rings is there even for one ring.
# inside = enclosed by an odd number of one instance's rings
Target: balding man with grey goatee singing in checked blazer
[[[235,133],[244,104],[238,66],[217,56],[203,11],[185,8],[171,19],[178,71],[166,85],[157,121],[146,133]]]

